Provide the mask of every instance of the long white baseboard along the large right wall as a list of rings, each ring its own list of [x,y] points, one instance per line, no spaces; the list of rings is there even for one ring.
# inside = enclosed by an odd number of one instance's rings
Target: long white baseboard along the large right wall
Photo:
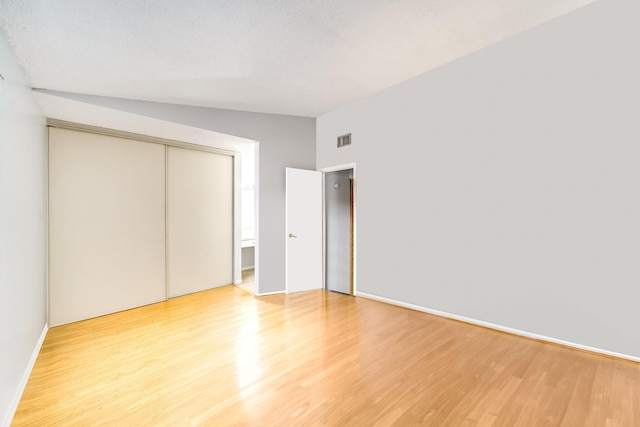
[[[374,301],[384,302],[391,305],[397,305],[399,307],[409,308],[411,310],[422,311],[424,313],[434,314],[440,317],[446,317],[453,320],[458,320],[464,323],[470,323],[472,325],[482,326],[489,329],[495,329],[501,332],[507,332],[513,335],[520,335],[526,338],[532,338],[540,341],[547,341],[553,344],[559,344],[565,347],[576,348],[579,350],[590,351],[592,353],[599,353],[606,356],[617,357],[619,359],[631,360],[633,362],[640,362],[640,357],[630,356],[628,354],[616,353],[614,351],[603,350],[601,348],[590,347],[587,345],[576,344],[571,341],[560,340],[557,338],[547,337],[545,335],[535,334],[533,332],[522,331],[520,329],[510,328],[508,326],[497,325],[495,323],[485,322],[484,320],[473,319],[471,317],[460,316],[458,314],[447,313],[446,311],[435,310],[429,307],[423,307],[416,304],[410,304],[407,302],[397,301],[391,298],[381,297],[378,295],[368,294],[366,292],[358,292],[359,297],[367,298]]]

